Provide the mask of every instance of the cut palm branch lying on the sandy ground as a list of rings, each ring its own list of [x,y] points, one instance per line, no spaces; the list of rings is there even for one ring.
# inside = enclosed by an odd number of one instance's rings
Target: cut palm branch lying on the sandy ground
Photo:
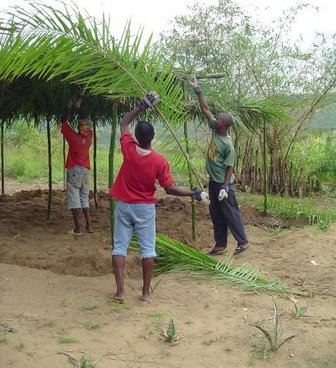
[[[131,241],[131,249],[138,250],[136,238]],[[225,260],[216,260],[201,250],[186,246],[163,234],[156,236],[157,273],[188,272],[197,277],[230,284],[246,291],[293,293],[288,287],[276,279],[265,279],[264,273],[257,267],[244,263],[232,265],[233,255]],[[295,292],[294,292],[295,293]]]

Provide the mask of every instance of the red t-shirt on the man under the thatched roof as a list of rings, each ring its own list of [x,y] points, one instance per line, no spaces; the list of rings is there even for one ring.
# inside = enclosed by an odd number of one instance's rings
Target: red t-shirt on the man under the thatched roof
[[[69,151],[67,152],[67,162],[65,167],[71,169],[75,165],[84,166],[90,170],[90,156],[89,149],[92,141],[92,132],[84,137],[75,132],[67,124],[67,121],[62,122],[60,132],[63,134],[67,143],[69,144]]]

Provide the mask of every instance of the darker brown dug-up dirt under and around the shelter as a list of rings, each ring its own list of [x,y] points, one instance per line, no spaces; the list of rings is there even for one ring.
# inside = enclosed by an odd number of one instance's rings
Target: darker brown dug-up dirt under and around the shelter
[[[213,227],[209,210],[197,203],[197,234],[193,241],[191,208],[186,198],[157,194],[157,231],[190,246],[207,250],[213,246]],[[108,193],[98,194],[99,209],[94,209],[90,193],[94,233],[67,234],[72,215],[67,211],[66,192],[52,192],[51,220],[46,220],[48,190],[25,190],[12,196],[0,196],[0,262],[49,269],[57,274],[101,276],[111,269],[110,208]],[[252,207],[241,208],[245,225],[289,227],[290,223],[266,217]],[[84,218],[82,219],[84,224]],[[270,226],[270,225],[269,225]],[[141,274],[138,256],[127,258],[127,274]]]

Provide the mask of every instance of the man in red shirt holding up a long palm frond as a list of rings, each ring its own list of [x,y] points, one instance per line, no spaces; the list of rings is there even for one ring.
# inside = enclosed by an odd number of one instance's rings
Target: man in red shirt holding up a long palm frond
[[[129,124],[142,110],[156,106],[160,102],[155,91],[150,91],[138,106],[131,110],[120,122],[122,155],[120,167],[110,196],[117,198],[115,208],[115,231],[113,239],[113,270],[117,291],[110,298],[124,301],[124,265],[127,247],[134,232],[141,250],[143,267],[143,289],[141,299],[149,301],[155,253],[155,180],[167,194],[195,197],[197,201],[208,203],[207,193],[198,188],[192,191],[174,186],[169,172],[169,164],[164,156],[153,151],[151,142],[154,128],[150,122],[139,121],[135,128],[136,140],[129,131]]]

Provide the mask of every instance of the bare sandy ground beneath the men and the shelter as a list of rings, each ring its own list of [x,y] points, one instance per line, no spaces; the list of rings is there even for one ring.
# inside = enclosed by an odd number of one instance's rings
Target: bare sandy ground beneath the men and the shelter
[[[325,232],[314,227],[277,231],[278,225],[290,224],[241,208],[251,246],[235,263],[249,262],[305,291],[306,296],[293,296],[299,307],[309,304],[303,318],[292,316],[288,296],[237,291],[185,274],[156,277],[155,298],[143,303],[136,253],[127,258],[126,303],[117,305],[107,298],[115,288],[108,196],[101,193],[99,210],[91,211],[95,232],[75,237],[67,234],[72,217],[64,191],[53,192],[50,221],[46,190],[12,193],[0,197],[2,368],[72,367],[70,357],[79,360],[85,354],[101,368],[336,367],[336,224]],[[193,242],[188,202],[162,193],[157,231],[205,251],[213,245],[207,209],[198,208]],[[229,248],[235,248],[232,238]],[[273,330],[272,299],[281,313],[283,337],[295,338],[276,353],[253,355],[261,332],[250,324]],[[170,317],[181,328],[174,344],[158,336]]]

